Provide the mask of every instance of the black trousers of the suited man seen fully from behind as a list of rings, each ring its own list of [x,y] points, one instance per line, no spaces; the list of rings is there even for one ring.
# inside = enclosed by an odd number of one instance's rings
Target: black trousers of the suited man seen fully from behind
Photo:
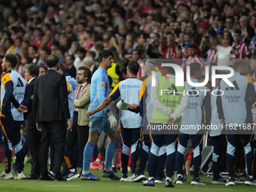
[[[41,124],[40,174],[47,174],[47,159],[51,136],[55,141],[53,172],[60,172],[66,145],[65,120],[42,122]]]

